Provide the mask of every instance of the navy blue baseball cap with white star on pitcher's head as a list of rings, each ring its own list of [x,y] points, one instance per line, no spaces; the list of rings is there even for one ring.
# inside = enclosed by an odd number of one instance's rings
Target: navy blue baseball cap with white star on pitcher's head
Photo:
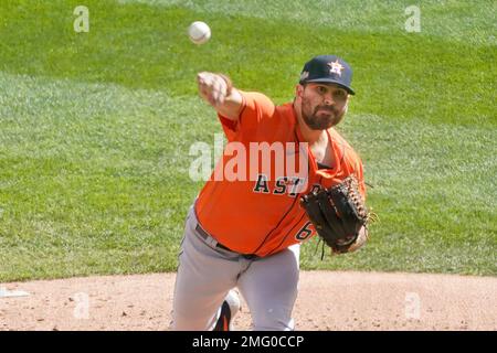
[[[337,84],[349,94],[356,94],[352,87],[350,87],[352,68],[336,55],[319,55],[313,57],[304,65],[299,84],[303,85],[310,82]]]

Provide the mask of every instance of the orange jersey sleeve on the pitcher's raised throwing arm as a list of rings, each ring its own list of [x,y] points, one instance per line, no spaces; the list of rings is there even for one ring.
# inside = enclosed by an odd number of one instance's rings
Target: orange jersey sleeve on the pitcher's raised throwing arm
[[[218,114],[221,126],[229,141],[236,140],[241,131],[255,131],[257,127],[274,115],[275,105],[265,95],[256,92],[242,92],[242,108],[237,120]]]

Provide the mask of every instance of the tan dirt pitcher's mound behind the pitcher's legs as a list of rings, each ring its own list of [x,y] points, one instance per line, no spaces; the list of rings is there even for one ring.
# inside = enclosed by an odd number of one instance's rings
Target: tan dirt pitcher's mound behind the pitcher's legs
[[[0,330],[168,330],[175,276],[3,284]],[[495,277],[302,271],[294,318],[297,330],[497,330],[496,292]]]

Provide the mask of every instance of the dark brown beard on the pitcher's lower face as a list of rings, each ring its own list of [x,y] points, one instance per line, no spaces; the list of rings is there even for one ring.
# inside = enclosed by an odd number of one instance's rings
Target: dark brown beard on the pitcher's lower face
[[[303,98],[300,111],[304,121],[311,130],[326,130],[341,121],[347,113],[347,105],[341,110],[334,106],[316,106],[313,110],[310,101]]]

